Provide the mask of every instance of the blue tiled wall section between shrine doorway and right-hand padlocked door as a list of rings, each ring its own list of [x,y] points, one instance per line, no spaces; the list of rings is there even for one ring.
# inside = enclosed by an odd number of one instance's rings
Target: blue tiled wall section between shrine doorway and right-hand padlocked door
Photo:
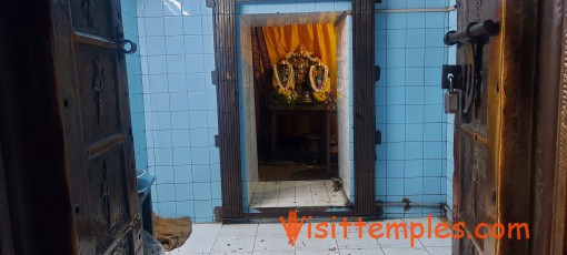
[[[377,9],[446,8],[446,0],[386,0]],[[382,202],[445,203],[447,116],[440,89],[447,12],[376,14],[376,198]],[[387,217],[439,215],[438,208],[386,207]]]

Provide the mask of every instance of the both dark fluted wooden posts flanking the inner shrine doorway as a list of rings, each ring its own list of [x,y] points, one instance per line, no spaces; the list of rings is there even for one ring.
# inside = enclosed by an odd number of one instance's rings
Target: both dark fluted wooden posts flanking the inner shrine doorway
[[[216,0],[212,7],[223,218],[243,216],[236,28],[238,1],[241,0]],[[376,213],[374,4],[374,0],[352,0],[355,213],[360,216]]]

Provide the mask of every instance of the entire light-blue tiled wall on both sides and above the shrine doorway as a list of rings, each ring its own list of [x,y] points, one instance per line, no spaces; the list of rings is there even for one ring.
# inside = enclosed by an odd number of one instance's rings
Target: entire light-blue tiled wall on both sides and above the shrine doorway
[[[137,3],[137,4],[135,4]],[[446,0],[390,0],[377,9],[439,8]],[[125,0],[125,27],[139,35],[139,55],[129,57],[129,81],[138,123],[138,166],[157,176],[155,211],[166,217],[190,216],[211,222],[220,206],[220,165],[213,146],[217,102],[213,69],[212,17],[205,0]],[[239,6],[239,13],[345,11],[348,0],[262,1]],[[136,11],[137,10],[137,11]],[[450,58],[442,45],[446,12],[378,13],[376,198],[445,203],[450,200],[452,170],[448,165],[447,132],[451,121],[442,112],[440,67]],[[138,24],[136,24],[138,21]],[[128,23],[128,24],[127,24]],[[136,28],[138,26],[138,34]],[[130,28],[130,29],[128,29]],[[137,60],[137,58],[139,58]],[[141,72],[136,71],[136,67]],[[133,85],[132,85],[133,84]],[[143,108],[141,106],[143,105]],[[135,125],[135,129],[136,125]],[[147,144],[143,143],[146,135]],[[138,142],[137,142],[138,141]],[[452,147],[452,145],[450,145]],[[147,149],[147,160],[146,150]],[[147,163],[145,163],[147,162]],[[246,166],[242,166],[246,167]],[[450,177],[449,177],[450,176]],[[354,190],[354,187],[351,187]],[[439,211],[389,207],[388,217],[421,216]]]

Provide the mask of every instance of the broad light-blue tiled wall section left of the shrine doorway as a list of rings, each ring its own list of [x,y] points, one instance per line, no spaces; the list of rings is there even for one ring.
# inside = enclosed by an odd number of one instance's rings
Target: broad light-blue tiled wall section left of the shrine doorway
[[[138,24],[153,210],[211,222],[221,204],[212,10],[205,0],[138,0]]]

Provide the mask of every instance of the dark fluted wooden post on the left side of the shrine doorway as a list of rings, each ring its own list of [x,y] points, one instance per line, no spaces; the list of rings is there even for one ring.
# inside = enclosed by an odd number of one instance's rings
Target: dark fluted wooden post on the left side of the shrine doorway
[[[219,122],[222,217],[242,217],[240,118],[238,100],[237,28],[235,0],[217,0],[212,8],[217,111]]]

